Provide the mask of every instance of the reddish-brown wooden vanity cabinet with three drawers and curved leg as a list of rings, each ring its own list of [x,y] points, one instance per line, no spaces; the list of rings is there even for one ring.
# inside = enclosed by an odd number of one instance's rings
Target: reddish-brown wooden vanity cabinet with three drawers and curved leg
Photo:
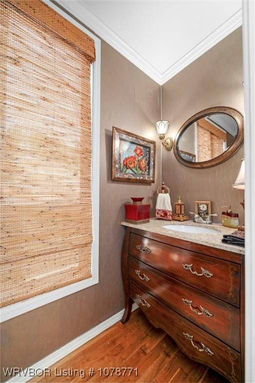
[[[125,323],[136,302],[191,359],[244,382],[244,255],[128,227]]]

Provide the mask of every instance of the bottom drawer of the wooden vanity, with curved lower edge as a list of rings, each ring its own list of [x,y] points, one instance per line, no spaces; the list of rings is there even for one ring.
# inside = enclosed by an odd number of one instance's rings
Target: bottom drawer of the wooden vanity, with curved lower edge
[[[152,325],[168,333],[191,359],[213,368],[230,382],[242,382],[241,356],[237,351],[184,319],[134,283],[130,283],[130,293]]]

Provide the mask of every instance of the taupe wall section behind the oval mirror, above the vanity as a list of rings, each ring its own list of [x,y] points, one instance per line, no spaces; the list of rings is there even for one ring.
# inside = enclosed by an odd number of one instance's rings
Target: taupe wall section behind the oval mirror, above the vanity
[[[238,28],[162,88],[162,117],[170,121],[175,137],[182,124],[200,110],[229,106],[244,113],[242,28]],[[173,151],[162,152],[162,181],[171,189],[172,202],[181,194],[186,212],[195,200],[211,200],[220,221],[223,205],[231,204],[244,222],[240,201],[244,192],[232,188],[244,157],[243,147],[226,162],[209,169],[192,169],[179,163]]]

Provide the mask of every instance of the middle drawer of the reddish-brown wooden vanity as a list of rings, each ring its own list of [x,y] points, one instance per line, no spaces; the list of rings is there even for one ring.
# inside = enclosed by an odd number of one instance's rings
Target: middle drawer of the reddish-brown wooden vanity
[[[240,351],[240,311],[128,256],[128,277],[210,334]]]

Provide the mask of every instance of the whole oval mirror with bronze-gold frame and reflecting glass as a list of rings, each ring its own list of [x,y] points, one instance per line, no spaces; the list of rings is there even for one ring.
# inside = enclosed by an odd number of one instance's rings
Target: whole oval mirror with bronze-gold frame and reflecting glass
[[[209,168],[233,156],[243,141],[242,114],[233,108],[210,108],[182,125],[174,141],[174,154],[183,165]]]

